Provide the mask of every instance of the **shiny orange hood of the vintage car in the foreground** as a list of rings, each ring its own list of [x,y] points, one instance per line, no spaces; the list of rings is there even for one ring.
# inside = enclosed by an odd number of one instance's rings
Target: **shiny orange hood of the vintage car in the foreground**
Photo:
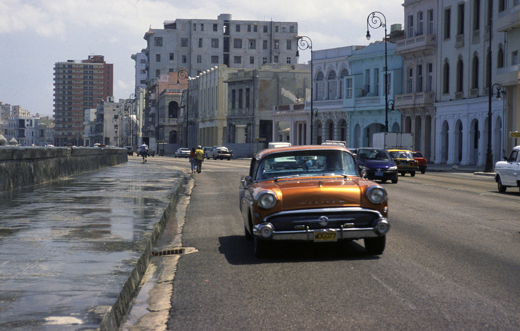
[[[298,178],[279,180],[272,185],[281,194],[283,210],[361,204],[361,189],[353,178]]]

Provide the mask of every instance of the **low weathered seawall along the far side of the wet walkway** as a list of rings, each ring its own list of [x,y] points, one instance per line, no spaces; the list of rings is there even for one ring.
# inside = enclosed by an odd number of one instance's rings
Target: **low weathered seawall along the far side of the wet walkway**
[[[0,146],[0,191],[127,161],[126,148]]]

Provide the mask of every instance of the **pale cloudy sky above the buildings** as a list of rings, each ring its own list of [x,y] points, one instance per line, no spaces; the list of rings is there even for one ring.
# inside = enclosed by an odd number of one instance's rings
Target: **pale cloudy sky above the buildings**
[[[114,98],[134,92],[132,54],[146,48],[143,38],[164,21],[217,19],[297,22],[313,50],[368,45],[367,17],[373,11],[404,26],[404,0],[0,0],[0,102],[31,115],[53,115],[54,64],[80,62],[89,55],[114,64]],[[370,42],[384,29],[371,29]],[[300,51],[299,63],[310,59]]]

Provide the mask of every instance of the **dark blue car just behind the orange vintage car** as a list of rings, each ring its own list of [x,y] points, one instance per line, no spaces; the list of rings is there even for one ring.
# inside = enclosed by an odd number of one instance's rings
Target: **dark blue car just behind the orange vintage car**
[[[383,148],[361,147],[353,151],[359,170],[371,181],[398,181],[397,164]]]

